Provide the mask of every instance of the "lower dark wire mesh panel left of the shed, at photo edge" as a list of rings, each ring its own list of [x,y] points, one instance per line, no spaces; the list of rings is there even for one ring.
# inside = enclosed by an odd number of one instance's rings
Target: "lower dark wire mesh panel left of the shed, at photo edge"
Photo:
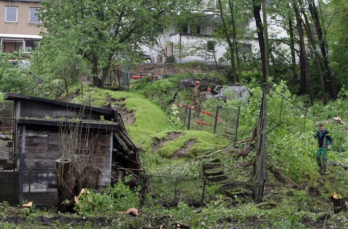
[[[0,171],[0,202],[19,204],[19,173]]]

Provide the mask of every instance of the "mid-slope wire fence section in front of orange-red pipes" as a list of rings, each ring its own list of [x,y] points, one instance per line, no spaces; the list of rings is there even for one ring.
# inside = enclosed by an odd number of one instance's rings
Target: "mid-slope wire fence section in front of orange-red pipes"
[[[180,106],[180,119],[188,130],[201,130],[232,137],[237,140],[240,107],[226,108]]]

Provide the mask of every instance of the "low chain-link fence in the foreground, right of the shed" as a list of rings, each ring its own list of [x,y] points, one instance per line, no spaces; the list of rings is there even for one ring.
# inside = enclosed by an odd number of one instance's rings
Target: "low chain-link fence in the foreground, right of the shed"
[[[201,179],[146,174],[145,170],[116,169],[114,180],[122,181],[132,189],[140,189],[142,204],[151,200],[170,207],[183,202],[199,206],[215,200],[217,195],[239,196],[244,199],[254,198],[255,186],[251,182],[214,182]]]

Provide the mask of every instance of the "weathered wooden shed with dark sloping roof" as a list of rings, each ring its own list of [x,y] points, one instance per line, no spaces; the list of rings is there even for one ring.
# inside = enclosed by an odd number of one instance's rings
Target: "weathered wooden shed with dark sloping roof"
[[[71,158],[81,176],[87,167],[96,169],[96,187],[107,185],[117,167],[140,169],[138,148],[115,109],[18,94],[5,100],[14,102],[12,162],[19,171],[19,200],[57,204],[55,162],[61,157]]]

